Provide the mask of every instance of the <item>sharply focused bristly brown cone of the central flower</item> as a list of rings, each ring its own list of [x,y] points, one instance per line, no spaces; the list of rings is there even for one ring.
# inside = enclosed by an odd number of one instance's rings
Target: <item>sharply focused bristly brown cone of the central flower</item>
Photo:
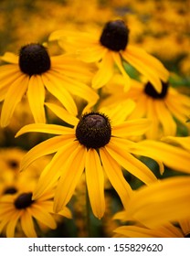
[[[111,140],[111,123],[100,112],[84,114],[76,128],[76,137],[87,148],[100,148]]]

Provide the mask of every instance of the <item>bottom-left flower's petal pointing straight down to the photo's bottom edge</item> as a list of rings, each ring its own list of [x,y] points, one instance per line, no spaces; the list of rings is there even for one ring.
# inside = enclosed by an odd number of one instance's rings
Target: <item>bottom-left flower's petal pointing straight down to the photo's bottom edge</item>
[[[27,208],[20,218],[20,223],[27,238],[37,238],[33,219],[32,216],[28,213]]]

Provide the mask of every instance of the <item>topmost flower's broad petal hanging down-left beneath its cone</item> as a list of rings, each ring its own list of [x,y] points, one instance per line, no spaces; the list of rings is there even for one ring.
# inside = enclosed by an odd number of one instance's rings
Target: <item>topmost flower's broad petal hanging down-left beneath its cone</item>
[[[92,80],[92,87],[94,89],[99,89],[103,85],[105,85],[113,75],[113,59],[111,55],[111,51],[107,50],[104,54],[100,67],[96,75]]]

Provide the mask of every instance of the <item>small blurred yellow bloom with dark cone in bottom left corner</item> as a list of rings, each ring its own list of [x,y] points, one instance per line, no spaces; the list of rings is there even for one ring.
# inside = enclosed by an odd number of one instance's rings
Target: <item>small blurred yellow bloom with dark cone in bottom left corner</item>
[[[29,188],[28,188],[29,189]],[[56,229],[57,223],[53,213],[53,193],[48,191],[36,200],[32,199],[32,191],[13,193],[7,191],[0,198],[0,233],[8,238],[15,237],[16,229],[21,229],[26,237],[36,238],[35,223],[44,224],[49,229]],[[64,208],[60,215],[71,218],[69,208]]]

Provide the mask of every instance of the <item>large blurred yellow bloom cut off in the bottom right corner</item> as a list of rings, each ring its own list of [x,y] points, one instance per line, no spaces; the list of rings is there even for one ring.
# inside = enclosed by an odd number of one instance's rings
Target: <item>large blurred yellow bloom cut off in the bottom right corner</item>
[[[169,229],[169,223],[179,223],[185,235],[190,232],[190,177],[174,176],[153,183],[149,187],[140,187],[134,191],[127,210],[115,215],[122,221],[137,221],[138,227],[123,226],[116,229],[121,234],[132,232],[147,236],[159,234]],[[170,231],[174,232],[174,228]],[[169,230],[168,230],[169,231]],[[168,231],[165,233],[167,234]],[[180,232],[178,231],[180,234]],[[182,236],[182,233],[181,233]]]

